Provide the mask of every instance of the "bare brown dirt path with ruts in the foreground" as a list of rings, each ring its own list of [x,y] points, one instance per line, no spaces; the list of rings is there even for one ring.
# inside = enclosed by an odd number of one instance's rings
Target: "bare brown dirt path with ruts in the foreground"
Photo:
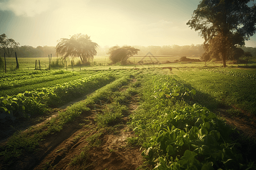
[[[41,153],[44,156],[34,169],[137,169],[143,164],[142,151],[139,147],[127,145],[126,141],[133,136],[133,131],[127,127],[126,122],[129,121],[129,114],[137,109],[137,104],[138,96],[134,96],[127,104],[129,113],[122,118],[123,124],[117,126],[114,132],[97,129],[94,121],[96,111],[85,113],[79,120],[72,122],[72,125],[67,125],[67,129],[73,131],[64,130],[44,142],[44,153]],[[64,134],[71,136],[56,145]],[[92,143],[100,145],[90,146]],[[80,161],[72,164],[72,160],[76,158],[80,158]]]

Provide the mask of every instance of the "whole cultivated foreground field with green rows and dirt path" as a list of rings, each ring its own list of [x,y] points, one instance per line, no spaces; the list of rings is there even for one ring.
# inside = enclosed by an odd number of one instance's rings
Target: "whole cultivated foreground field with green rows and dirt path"
[[[256,168],[255,69],[94,62],[0,74],[0,169]]]

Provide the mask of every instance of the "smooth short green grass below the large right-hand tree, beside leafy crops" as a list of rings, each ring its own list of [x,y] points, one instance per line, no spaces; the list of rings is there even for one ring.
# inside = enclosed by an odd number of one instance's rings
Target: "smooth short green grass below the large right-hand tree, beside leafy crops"
[[[256,90],[252,88],[256,87],[256,81],[250,76],[229,74],[230,71],[239,73],[238,69],[226,68],[224,69],[226,74],[215,72],[216,70],[218,68],[210,71],[196,68],[173,69],[172,73],[187,86],[195,88],[198,94],[195,100],[213,111],[228,105],[256,114]],[[255,70],[242,70],[241,73],[250,75],[253,71],[255,73]]]

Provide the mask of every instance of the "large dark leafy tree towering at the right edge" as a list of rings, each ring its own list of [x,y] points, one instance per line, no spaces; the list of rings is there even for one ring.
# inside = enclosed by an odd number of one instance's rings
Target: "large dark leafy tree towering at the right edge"
[[[250,0],[203,0],[193,11],[187,25],[204,38],[204,46],[211,56],[220,57],[223,66],[237,45],[253,36],[256,27],[256,7]]]

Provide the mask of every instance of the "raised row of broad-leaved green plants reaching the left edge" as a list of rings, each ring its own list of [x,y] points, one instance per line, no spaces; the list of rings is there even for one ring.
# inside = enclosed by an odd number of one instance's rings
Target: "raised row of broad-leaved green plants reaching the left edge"
[[[46,111],[47,106],[57,105],[80,96],[92,89],[105,86],[114,80],[110,73],[99,73],[72,82],[56,84],[53,87],[25,91],[18,95],[0,97],[0,120],[5,122],[16,117],[30,117]]]

